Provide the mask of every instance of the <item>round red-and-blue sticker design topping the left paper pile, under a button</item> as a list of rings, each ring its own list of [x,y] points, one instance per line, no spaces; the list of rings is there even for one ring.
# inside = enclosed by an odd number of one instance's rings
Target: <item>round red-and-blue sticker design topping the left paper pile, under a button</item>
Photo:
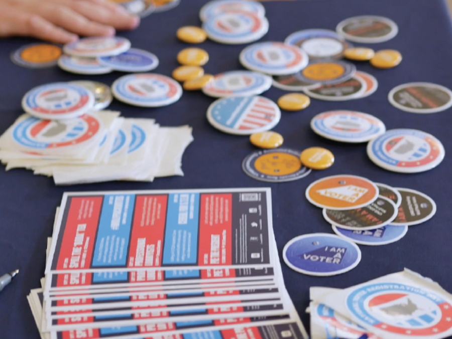
[[[28,117],[14,128],[13,139],[33,150],[61,148],[92,140],[100,129],[100,120],[90,114],[54,121]]]

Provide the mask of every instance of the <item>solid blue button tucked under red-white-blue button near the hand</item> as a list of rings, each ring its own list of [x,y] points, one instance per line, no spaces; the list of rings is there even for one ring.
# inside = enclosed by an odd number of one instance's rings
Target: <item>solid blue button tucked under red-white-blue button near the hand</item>
[[[122,72],[148,72],[159,65],[155,54],[137,48],[115,56],[99,57],[97,61],[105,67]]]

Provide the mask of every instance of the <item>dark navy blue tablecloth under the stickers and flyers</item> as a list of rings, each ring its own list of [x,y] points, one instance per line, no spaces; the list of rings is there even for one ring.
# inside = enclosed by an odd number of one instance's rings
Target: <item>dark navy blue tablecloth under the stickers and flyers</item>
[[[176,39],[180,26],[200,25],[198,12],[203,0],[182,0],[179,7],[151,15],[134,32],[121,33],[132,46],[155,53],[160,65],[155,72],[171,75],[178,66],[176,54],[186,44]],[[304,197],[306,187],[314,180],[336,174],[353,174],[394,187],[419,190],[437,204],[436,215],[428,222],[410,227],[400,241],[385,246],[360,246],[361,263],[352,271],[333,277],[312,277],[289,269],[282,262],[286,287],[308,327],[305,308],[310,286],[345,288],[407,267],[437,281],[452,291],[452,109],[434,114],[412,114],[400,111],[387,100],[390,89],[413,82],[434,82],[452,88],[452,27],[442,0],[317,0],[266,2],[270,22],[263,41],[283,41],[290,33],[310,28],[334,30],[338,22],[357,15],[379,15],[391,18],[399,26],[398,35],[385,43],[369,45],[378,49],[396,49],[403,55],[394,69],[379,70],[368,63],[359,70],[373,74],[379,88],[368,98],[346,102],[312,100],[311,105],[296,113],[282,112],[274,128],[285,138],[285,146],[304,149],[323,146],[335,154],[336,162],[328,170],[313,172],[299,181],[266,184],[242,172],[243,158],[255,148],[246,136],[223,134],[209,125],[205,113],[213,101],[201,92],[186,92],[180,101],[162,108],[138,108],[114,101],[110,108],[125,117],[155,118],[163,126],[189,124],[194,142],[183,156],[184,177],[156,179],[153,183],[114,182],[70,187],[55,187],[53,180],[34,176],[31,171],[0,168],[0,274],[20,268],[17,279],[0,293],[0,337],[3,339],[37,339],[38,331],[26,299],[32,288],[40,287],[44,274],[46,239],[52,234],[55,208],[65,191],[152,190],[182,188],[263,187],[272,188],[273,224],[281,257],[284,244],[293,237],[314,232],[332,233],[321,210]],[[0,41],[0,133],[22,113],[21,99],[30,88],[55,81],[92,79],[111,84],[122,74],[79,76],[57,67],[27,69],[14,65],[10,53],[32,42],[14,38]],[[359,44],[357,44],[359,45]],[[204,42],[199,47],[210,54],[207,73],[242,69],[239,53],[243,45],[221,45]],[[271,88],[265,96],[277,100],[285,92]],[[420,174],[398,174],[374,165],[366,155],[366,144],[345,144],[323,139],[312,132],[310,119],[332,109],[351,109],[373,114],[388,129],[416,128],[435,135],[443,143],[446,156],[431,171]]]

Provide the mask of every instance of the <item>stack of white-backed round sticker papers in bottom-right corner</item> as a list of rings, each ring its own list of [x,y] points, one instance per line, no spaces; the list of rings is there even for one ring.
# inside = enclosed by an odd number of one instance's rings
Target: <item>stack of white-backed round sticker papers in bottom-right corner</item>
[[[311,339],[452,335],[452,295],[405,269],[346,289],[311,287]]]

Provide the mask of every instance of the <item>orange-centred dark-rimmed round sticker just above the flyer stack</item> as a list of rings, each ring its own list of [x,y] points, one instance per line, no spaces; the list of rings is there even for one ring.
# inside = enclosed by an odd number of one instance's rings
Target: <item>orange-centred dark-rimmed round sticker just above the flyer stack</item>
[[[289,148],[253,152],[243,160],[242,169],[251,178],[270,183],[294,181],[311,173],[301,164],[300,151]]]

